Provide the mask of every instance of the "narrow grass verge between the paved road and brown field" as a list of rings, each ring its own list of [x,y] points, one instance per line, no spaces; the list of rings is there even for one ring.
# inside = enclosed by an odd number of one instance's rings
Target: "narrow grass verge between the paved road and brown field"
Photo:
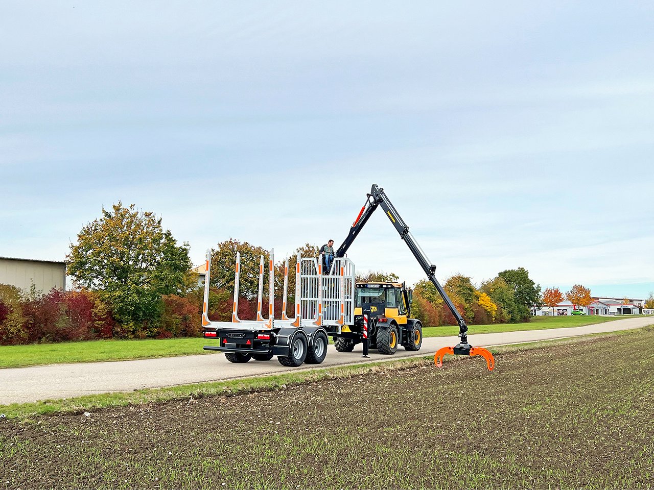
[[[519,352],[552,346],[579,344],[588,338],[606,336],[637,335],[638,332],[647,329],[651,331],[654,327],[644,327],[627,331],[615,331],[572,338],[561,338],[555,340],[543,340],[539,342],[525,342],[523,344],[512,344],[489,348],[493,355],[501,356],[504,353]],[[143,403],[168,402],[181,399],[199,399],[214,395],[236,395],[250,393],[253,391],[267,391],[286,388],[291,385],[298,385],[307,382],[320,380],[351,378],[370,372],[390,372],[411,368],[417,365],[430,365],[434,356],[411,357],[408,359],[395,359],[392,361],[379,361],[356,365],[346,365],[333,368],[312,369],[300,372],[284,372],[270,376],[256,376],[253,378],[241,378],[221,382],[207,382],[190,385],[179,385],[163,388],[141,389],[136,391],[120,393],[103,393],[99,395],[87,395],[84,397],[43,400],[24,404],[0,405],[0,414],[7,418],[17,418],[22,421],[31,421],[35,417],[59,414],[80,414],[92,412],[102,408],[116,406],[131,406]],[[468,357],[445,357],[445,363],[465,361]],[[485,369],[485,363],[481,358],[475,358],[479,362],[479,368]],[[471,360],[471,362],[474,362]]]

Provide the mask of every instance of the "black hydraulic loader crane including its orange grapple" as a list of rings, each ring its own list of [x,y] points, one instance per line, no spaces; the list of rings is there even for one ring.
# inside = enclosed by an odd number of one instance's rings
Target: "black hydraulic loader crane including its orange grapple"
[[[372,188],[370,189],[370,193],[367,195],[366,203],[361,208],[361,211],[356,217],[356,220],[354,220],[354,223],[350,228],[350,232],[343,241],[343,244],[341,244],[341,246],[336,251],[336,257],[345,257],[345,253],[354,242],[354,239],[363,229],[364,225],[366,225],[370,219],[370,216],[372,216],[373,212],[375,212],[377,206],[381,206],[381,208],[385,211],[388,219],[400,234],[400,238],[402,238],[402,240],[404,240],[404,242],[407,244],[409,250],[411,250],[411,253],[413,253],[413,256],[421,265],[422,270],[424,270],[425,274],[427,274],[427,278],[432,282],[432,284],[434,284],[436,291],[438,291],[439,295],[441,295],[443,301],[445,301],[445,304],[447,304],[447,308],[449,308],[449,310],[452,312],[458,323],[458,336],[460,338],[460,342],[454,347],[443,347],[439,349],[434,356],[434,363],[436,363],[438,367],[442,367],[443,357],[445,354],[470,356],[481,355],[484,357],[484,359],[486,359],[489,370],[492,370],[495,367],[495,360],[492,356],[492,353],[490,353],[490,351],[487,349],[481,347],[473,347],[470,345],[468,342],[468,325],[466,325],[466,321],[463,319],[458,310],[456,310],[456,307],[454,306],[451,299],[449,299],[447,296],[445,289],[443,289],[443,287],[436,279],[436,265],[431,264],[427,259],[426,254],[416,242],[415,238],[413,238],[411,232],[409,232],[409,227],[404,222],[404,220],[402,220],[395,206],[393,206],[393,204],[390,202],[390,199],[388,199],[384,189],[377,186],[377,184],[373,184]]]

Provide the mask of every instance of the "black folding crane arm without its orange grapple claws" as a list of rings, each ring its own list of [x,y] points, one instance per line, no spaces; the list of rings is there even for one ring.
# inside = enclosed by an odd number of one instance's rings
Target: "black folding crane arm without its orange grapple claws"
[[[438,282],[438,279],[436,279],[436,276],[434,276],[434,274],[436,274],[436,265],[433,265],[429,262],[429,259],[422,251],[422,248],[420,248],[420,246],[417,244],[415,238],[413,238],[413,235],[409,233],[409,227],[406,225],[404,220],[402,220],[398,210],[396,210],[395,206],[393,206],[393,204],[390,202],[390,199],[388,199],[384,189],[377,186],[377,184],[373,184],[372,188],[370,189],[370,194],[368,194],[366,204],[364,204],[364,206],[361,208],[361,211],[359,212],[359,216],[357,216],[356,220],[354,220],[347,238],[345,238],[343,244],[341,244],[341,246],[338,248],[336,257],[343,257],[345,255],[347,249],[350,248],[351,244],[354,242],[354,238],[357,237],[366,222],[368,222],[370,216],[372,216],[373,212],[375,212],[375,209],[377,209],[377,206],[381,206],[381,208],[386,212],[388,220],[390,220],[392,225],[398,231],[400,238],[402,238],[402,240],[404,240],[404,242],[407,244],[409,250],[411,250],[411,253],[413,253],[413,256],[421,265],[422,270],[424,270],[424,273],[427,274],[428,279],[432,282],[432,284],[434,284],[436,291],[438,291],[439,295],[441,295],[443,298],[443,301],[445,301],[445,304],[447,304],[447,308],[449,308],[454,318],[456,318],[456,322],[458,323],[459,327],[458,336],[461,338],[461,343],[457,346],[457,348],[470,350],[467,335],[468,325],[466,325],[466,321],[463,319],[458,310],[456,310],[454,303],[451,299],[449,299],[447,293],[445,293],[445,289],[443,289],[443,287]]]

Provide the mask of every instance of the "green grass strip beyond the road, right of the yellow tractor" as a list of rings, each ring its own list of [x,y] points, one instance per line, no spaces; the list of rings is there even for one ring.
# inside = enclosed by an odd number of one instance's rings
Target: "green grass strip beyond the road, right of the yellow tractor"
[[[525,330],[562,329],[566,327],[583,327],[625,318],[644,317],[648,315],[617,315],[617,316],[535,316],[525,323],[495,323],[494,325],[468,325],[468,335],[479,333],[517,332]],[[654,318],[652,318],[654,322]],[[458,335],[458,325],[445,325],[444,327],[424,327],[422,335],[425,337],[447,337]]]

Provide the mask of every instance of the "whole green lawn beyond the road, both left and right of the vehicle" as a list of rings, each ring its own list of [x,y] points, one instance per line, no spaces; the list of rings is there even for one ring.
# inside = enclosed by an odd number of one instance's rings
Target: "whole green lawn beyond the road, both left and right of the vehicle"
[[[559,316],[536,317],[527,323],[500,323],[496,325],[470,325],[469,333],[514,332],[521,330],[581,327],[628,316]],[[458,335],[458,327],[425,327],[426,337]],[[207,342],[203,338],[169,338],[165,340],[92,340],[90,342],[60,342],[58,344],[31,344],[27,346],[0,346],[0,368],[26,367],[58,363],[94,363],[100,361],[127,361],[215,353],[202,350]]]

